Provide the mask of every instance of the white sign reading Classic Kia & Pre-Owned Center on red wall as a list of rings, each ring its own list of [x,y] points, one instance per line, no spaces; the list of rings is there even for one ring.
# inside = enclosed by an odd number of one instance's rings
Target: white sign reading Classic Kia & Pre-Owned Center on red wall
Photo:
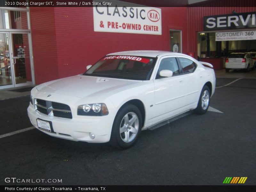
[[[161,9],[119,1],[108,3],[98,1],[93,6],[94,31],[162,35]]]

